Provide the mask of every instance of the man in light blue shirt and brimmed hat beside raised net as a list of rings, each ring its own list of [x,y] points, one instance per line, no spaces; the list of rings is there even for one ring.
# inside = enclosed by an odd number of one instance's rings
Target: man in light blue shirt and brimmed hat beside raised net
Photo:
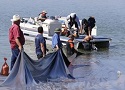
[[[52,48],[54,50],[58,50],[62,47],[62,42],[60,41],[60,33],[61,33],[61,29],[60,28],[56,28],[54,30],[55,34],[52,37]]]

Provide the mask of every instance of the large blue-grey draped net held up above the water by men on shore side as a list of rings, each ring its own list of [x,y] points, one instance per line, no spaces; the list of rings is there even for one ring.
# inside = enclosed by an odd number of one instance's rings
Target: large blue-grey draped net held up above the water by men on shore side
[[[48,79],[74,77],[68,70],[70,62],[60,49],[39,60],[31,59],[23,50],[18,55],[13,69],[1,86],[31,86]]]

